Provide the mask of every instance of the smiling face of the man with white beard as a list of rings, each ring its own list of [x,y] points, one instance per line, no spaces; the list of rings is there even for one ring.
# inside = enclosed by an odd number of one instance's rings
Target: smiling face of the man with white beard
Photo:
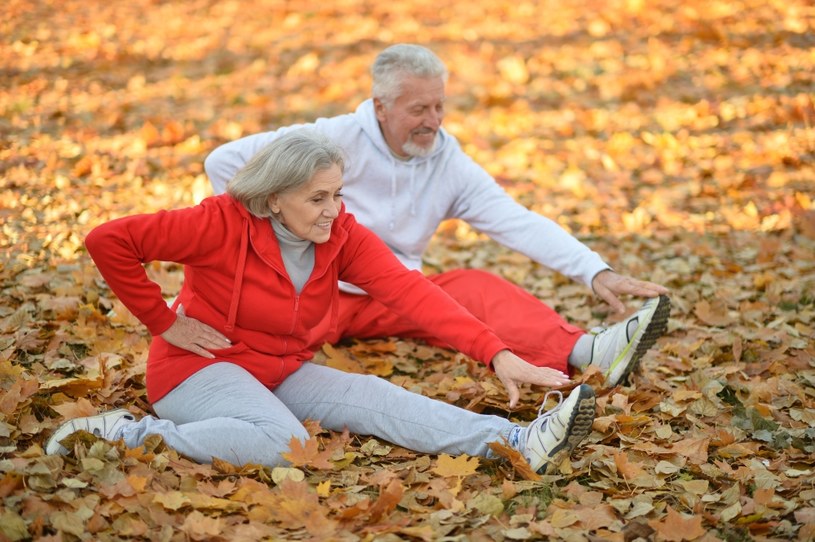
[[[401,89],[390,107],[374,98],[379,127],[397,156],[426,156],[435,148],[444,117],[444,79],[406,76]]]

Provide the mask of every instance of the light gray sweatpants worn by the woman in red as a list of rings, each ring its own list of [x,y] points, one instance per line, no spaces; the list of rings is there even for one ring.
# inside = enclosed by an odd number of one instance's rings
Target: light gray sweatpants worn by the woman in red
[[[325,429],[347,427],[425,453],[491,457],[488,444],[508,438],[516,424],[476,414],[409,392],[376,376],[345,373],[305,363],[270,391],[241,367],[227,362],[206,367],[153,405],[159,418],[145,416],[124,426],[131,448],[161,435],[178,452],[201,463],[213,457],[243,465],[283,465],[281,452],[292,437],[308,438],[302,421]]]

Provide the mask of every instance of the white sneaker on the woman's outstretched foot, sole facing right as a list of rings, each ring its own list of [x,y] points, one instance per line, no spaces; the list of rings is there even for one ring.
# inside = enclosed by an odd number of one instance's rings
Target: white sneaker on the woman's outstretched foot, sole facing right
[[[553,394],[558,395],[557,406],[541,413],[546,400]],[[558,390],[547,392],[541,410],[538,418],[527,426],[526,443],[521,449],[538,474],[544,474],[550,465],[559,465],[591,432],[594,390],[588,384],[581,384],[566,400]]]

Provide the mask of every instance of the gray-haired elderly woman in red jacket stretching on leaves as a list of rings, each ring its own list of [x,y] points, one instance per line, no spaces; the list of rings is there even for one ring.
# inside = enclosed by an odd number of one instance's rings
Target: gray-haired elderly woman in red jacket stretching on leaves
[[[340,148],[316,132],[286,134],[200,205],[114,220],[88,251],[113,292],[154,335],[147,395],[157,417],[119,409],[60,426],[47,453],[78,430],[140,446],[160,435],[200,462],[285,463],[302,421],[348,428],[429,453],[489,456],[506,440],[543,472],[588,434],[594,392],[581,385],[526,427],[415,394],[383,379],[310,363],[337,326],[338,280],[490,364],[507,386],[560,386],[568,377],[512,354],[483,323],[408,271],[342,205]],[[184,264],[172,307],[143,264]],[[183,307],[183,311],[179,310]],[[559,394],[559,392],[556,392]]]

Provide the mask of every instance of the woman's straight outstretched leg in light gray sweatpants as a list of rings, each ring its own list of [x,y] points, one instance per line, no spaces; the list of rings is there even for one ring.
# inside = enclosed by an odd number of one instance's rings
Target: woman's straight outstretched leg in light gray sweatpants
[[[490,442],[507,438],[516,424],[476,414],[370,375],[305,363],[275,389],[300,420],[325,429],[346,427],[425,453],[488,456]]]

